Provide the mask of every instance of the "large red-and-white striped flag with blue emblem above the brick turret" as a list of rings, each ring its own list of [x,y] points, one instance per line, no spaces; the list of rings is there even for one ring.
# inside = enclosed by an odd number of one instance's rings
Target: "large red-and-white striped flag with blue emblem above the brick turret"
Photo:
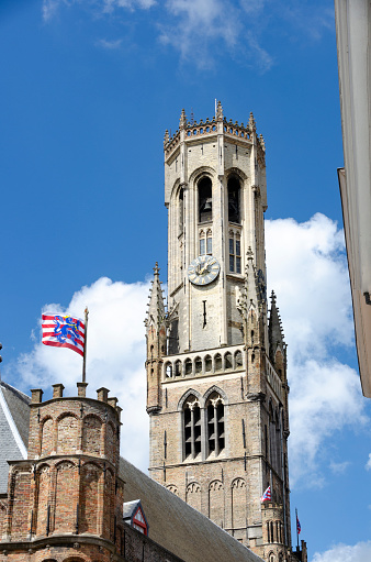
[[[83,356],[85,323],[79,318],[46,312],[43,315],[43,343],[68,348]]]

